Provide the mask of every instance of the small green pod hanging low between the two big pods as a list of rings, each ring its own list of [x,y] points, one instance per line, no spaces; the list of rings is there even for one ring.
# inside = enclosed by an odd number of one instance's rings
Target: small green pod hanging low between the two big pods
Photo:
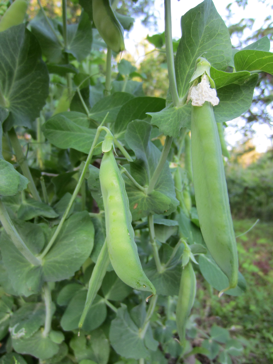
[[[195,293],[196,277],[193,266],[189,261],[183,268],[176,306],[176,325],[181,344],[183,344],[183,341],[185,340],[186,323],[194,304]]]

